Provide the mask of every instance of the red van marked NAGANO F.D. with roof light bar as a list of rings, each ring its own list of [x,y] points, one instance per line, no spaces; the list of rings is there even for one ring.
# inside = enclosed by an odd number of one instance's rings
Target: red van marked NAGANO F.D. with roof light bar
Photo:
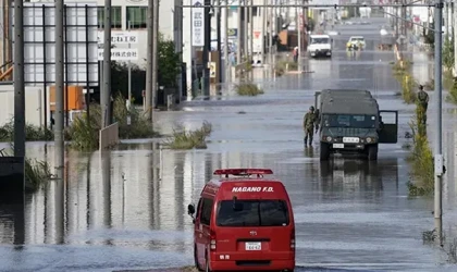
[[[222,169],[207,183],[193,217],[195,265],[200,271],[295,269],[295,224],[281,181],[269,169]],[[195,214],[195,217],[194,217]]]

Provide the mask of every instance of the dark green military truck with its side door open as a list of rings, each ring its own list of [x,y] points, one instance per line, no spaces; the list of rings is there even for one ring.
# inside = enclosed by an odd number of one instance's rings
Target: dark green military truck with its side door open
[[[320,159],[332,153],[360,153],[378,160],[379,144],[396,144],[398,111],[380,110],[368,90],[325,89],[316,92],[318,110]],[[383,115],[392,114],[391,122]]]

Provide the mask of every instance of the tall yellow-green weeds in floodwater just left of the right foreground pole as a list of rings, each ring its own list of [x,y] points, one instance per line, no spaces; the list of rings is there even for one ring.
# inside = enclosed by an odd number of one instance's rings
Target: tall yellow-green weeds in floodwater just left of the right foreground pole
[[[427,113],[416,106],[415,119],[410,122],[412,150],[408,158],[411,162],[411,177],[408,183],[410,196],[430,196],[434,191],[433,153],[427,137]]]

